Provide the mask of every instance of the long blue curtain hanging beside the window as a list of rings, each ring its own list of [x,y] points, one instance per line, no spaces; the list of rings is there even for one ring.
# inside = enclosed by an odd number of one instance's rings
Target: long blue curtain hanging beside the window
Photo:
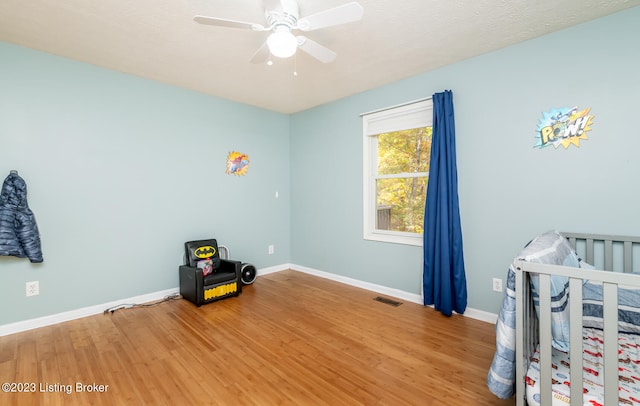
[[[458,206],[453,93],[433,95],[433,138],[424,213],[424,304],[446,316],[467,308]]]

